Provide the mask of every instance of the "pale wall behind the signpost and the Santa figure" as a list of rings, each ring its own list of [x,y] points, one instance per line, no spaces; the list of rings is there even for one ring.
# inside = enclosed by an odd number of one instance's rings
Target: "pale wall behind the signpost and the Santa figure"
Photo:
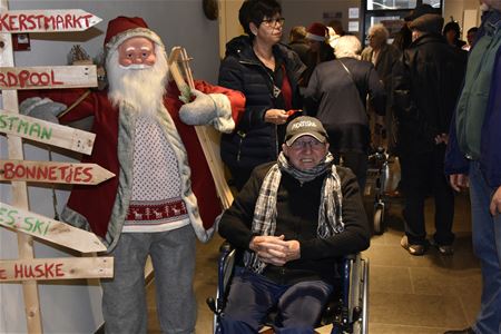
[[[216,82],[219,67],[218,23],[205,18],[200,0],[10,0],[11,10],[21,9],[84,9],[104,19],[79,33],[31,35],[31,51],[16,52],[17,66],[66,65],[67,55],[76,43],[90,56],[101,52],[107,22],[117,16],[137,16],[146,20],[164,40],[167,50],[183,46],[194,58],[191,69],[196,78]],[[68,160],[62,150],[55,160]],[[63,155],[62,155],[63,154]],[[0,158],[7,159],[7,140],[0,135]],[[24,145],[24,158],[48,160],[45,149]],[[57,190],[59,212],[67,200],[67,190]],[[10,204],[9,184],[0,184],[0,200]],[[53,216],[51,190],[29,187],[32,212]],[[49,245],[35,243],[37,257],[78,256]],[[0,227],[0,259],[17,258],[16,234]],[[102,323],[100,288],[85,282],[40,284],[42,326],[45,333],[94,333]],[[0,333],[26,333],[22,289],[20,284],[0,284]]]

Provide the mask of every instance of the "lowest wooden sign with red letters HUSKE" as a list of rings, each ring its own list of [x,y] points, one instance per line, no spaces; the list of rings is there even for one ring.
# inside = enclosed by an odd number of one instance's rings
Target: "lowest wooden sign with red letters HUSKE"
[[[17,281],[110,278],[112,276],[112,257],[62,257],[0,261],[0,283]]]

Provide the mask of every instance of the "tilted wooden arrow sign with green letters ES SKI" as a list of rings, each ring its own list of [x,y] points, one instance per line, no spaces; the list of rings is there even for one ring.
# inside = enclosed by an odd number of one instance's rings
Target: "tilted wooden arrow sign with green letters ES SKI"
[[[81,253],[106,250],[106,246],[94,233],[1,202],[0,225]]]

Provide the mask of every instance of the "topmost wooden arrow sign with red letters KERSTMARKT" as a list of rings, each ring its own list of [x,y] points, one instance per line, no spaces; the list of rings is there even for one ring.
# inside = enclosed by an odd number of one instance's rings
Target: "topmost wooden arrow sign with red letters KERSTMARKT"
[[[84,31],[100,21],[81,9],[9,10],[0,14],[0,32]]]

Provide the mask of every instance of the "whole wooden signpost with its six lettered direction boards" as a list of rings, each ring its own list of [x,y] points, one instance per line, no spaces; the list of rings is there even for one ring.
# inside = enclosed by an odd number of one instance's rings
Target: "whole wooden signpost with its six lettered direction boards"
[[[95,135],[19,115],[18,89],[97,87],[96,67],[16,68],[11,33],[82,31],[101,19],[82,10],[9,11],[0,0],[0,132],[7,134],[9,159],[1,160],[0,179],[10,180],[11,205],[0,203],[0,225],[18,232],[18,259],[0,259],[0,283],[21,282],[28,333],[43,333],[38,281],[112,277],[112,257],[35,258],[32,236],[81,253],[106,250],[92,233],[31,213],[26,180],[98,184],[112,174],[96,165],[24,161],[27,138],[90,154]],[[8,111],[7,111],[8,110]]]

